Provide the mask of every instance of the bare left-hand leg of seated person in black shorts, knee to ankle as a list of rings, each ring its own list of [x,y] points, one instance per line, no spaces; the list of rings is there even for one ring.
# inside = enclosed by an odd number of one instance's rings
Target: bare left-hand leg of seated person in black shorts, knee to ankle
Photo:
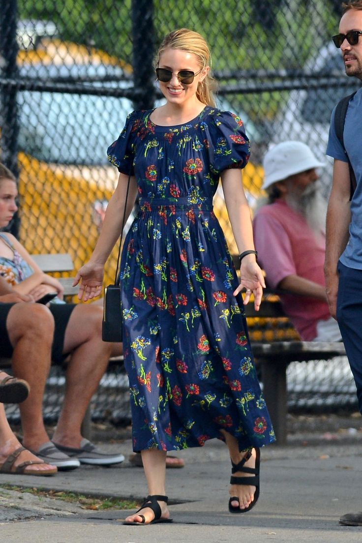
[[[28,381],[30,394],[20,404],[23,445],[37,450],[49,440],[43,423],[43,394],[50,368],[54,321],[41,304],[15,304],[8,315],[7,329],[14,347],[12,369]]]

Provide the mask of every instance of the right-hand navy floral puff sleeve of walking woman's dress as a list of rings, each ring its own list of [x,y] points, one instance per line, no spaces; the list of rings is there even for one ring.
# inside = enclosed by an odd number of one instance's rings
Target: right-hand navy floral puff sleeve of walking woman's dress
[[[217,110],[211,131],[212,166],[221,173],[227,168],[244,168],[250,157],[250,143],[244,123],[230,111]]]

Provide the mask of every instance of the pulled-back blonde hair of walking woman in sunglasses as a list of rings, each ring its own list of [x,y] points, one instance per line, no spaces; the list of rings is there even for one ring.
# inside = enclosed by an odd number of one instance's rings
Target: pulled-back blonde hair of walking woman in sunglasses
[[[157,51],[155,58],[155,67],[160,63],[160,57],[166,49],[181,49],[187,53],[193,53],[197,56],[200,62],[200,67],[211,68],[211,53],[204,37],[198,32],[189,30],[188,28],[180,28],[173,30],[164,37],[160,48]],[[206,77],[199,82],[196,90],[196,97],[206,105],[215,107],[214,91],[216,89],[216,81],[211,75],[211,70],[208,71]]]

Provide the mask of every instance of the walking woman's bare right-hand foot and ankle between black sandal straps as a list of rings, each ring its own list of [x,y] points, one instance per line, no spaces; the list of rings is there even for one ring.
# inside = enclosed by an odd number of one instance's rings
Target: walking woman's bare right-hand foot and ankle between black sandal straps
[[[221,430],[221,432],[224,434],[225,441],[227,448],[230,453],[230,458],[234,464],[238,464],[241,462],[241,460],[245,457],[247,451],[239,451],[239,444],[236,438],[234,438],[233,435],[229,434],[228,432],[225,432],[225,430]],[[247,462],[245,462],[245,468],[255,468],[255,459],[256,459],[256,451],[255,449],[252,449],[251,457]],[[242,473],[237,471],[233,474],[235,477],[248,477],[248,473]],[[246,485],[246,484],[233,484],[230,487],[229,494],[230,496],[238,496],[239,502],[240,502],[240,509],[245,509],[247,506],[250,505],[250,503],[254,499],[254,493],[256,488],[252,485]],[[232,507],[238,507],[237,501],[232,501],[231,506]]]

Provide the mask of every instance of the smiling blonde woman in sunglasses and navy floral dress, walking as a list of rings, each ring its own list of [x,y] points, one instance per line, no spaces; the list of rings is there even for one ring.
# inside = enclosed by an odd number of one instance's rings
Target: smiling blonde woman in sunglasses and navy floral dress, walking
[[[167,451],[226,441],[232,513],[259,495],[259,447],[274,441],[252,361],[244,303],[259,307],[256,262],[241,170],[249,159],[242,120],[215,108],[210,53],[185,28],[164,39],[155,60],[166,104],[132,112],[108,149],[119,182],[90,262],[78,273],[85,300],[101,291],[103,268],[128,216],[120,282],[124,359],[131,387],[134,451],[142,452],[149,496],[127,524],[170,521]],[[212,210],[219,178],[240,251],[241,282]]]

